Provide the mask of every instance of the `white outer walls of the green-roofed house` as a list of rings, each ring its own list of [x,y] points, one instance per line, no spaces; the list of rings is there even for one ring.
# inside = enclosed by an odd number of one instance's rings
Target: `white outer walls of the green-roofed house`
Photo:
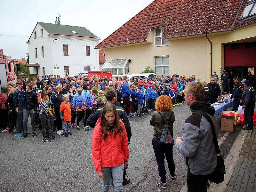
[[[40,64],[39,76],[43,75],[43,67],[45,68],[45,75],[60,74],[61,77],[64,76],[64,66],[69,66],[70,76],[84,73],[84,66],[91,66],[91,71],[100,70],[99,50],[94,49],[97,45],[97,39],[56,35],[47,36],[49,33],[45,30],[43,38],[40,37],[41,28],[37,24],[35,29],[37,31],[37,38],[34,39],[34,30],[28,44],[29,63]],[[54,39],[57,40],[53,41]],[[63,44],[68,44],[68,56],[63,55]],[[44,57],[41,57],[41,46],[44,46]],[[85,46],[90,46],[90,56],[86,56]],[[36,47],[38,58],[35,58]],[[94,70],[93,67],[95,67]]]

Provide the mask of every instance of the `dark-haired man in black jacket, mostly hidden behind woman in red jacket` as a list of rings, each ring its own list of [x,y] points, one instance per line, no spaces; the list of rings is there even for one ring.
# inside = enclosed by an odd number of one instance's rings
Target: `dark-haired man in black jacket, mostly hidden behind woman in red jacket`
[[[115,105],[115,103],[117,101],[117,94],[114,90],[108,90],[106,92],[106,98],[107,98],[108,103],[111,103],[111,104]],[[132,131],[131,131],[131,125],[130,125],[130,122],[128,120],[128,117],[127,117],[123,108],[118,107],[116,105],[115,105],[115,107],[116,107],[119,118],[124,123],[124,127],[125,127],[125,130],[127,132],[128,141],[130,143],[131,136],[132,136]],[[100,108],[100,109],[96,110],[91,116],[89,116],[88,119],[87,119],[86,124],[88,124],[90,127],[94,128],[97,120],[101,117],[102,109],[103,108]],[[124,167],[123,185],[126,185],[126,184],[130,183],[130,179],[125,178],[126,169],[127,169],[127,166]]]

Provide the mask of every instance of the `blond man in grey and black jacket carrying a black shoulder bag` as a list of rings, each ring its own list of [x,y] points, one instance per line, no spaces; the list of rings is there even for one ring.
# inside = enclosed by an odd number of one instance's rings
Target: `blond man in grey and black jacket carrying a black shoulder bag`
[[[206,183],[216,165],[216,150],[212,139],[210,123],[196,111],[203,111],[211,117],[218,138],[219,123],[215,109],[204,103],[204,86],[198,81],[189,83],[185,88],[185,100],[192,115],[183,125],[182,137],[177,137],[175,145],[184,156],[188,170],[188,192],[206,192]]]

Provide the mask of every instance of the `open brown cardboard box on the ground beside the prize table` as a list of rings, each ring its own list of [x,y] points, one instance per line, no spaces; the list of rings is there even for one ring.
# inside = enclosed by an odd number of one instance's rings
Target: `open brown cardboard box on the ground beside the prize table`
[[[230,112],[234,113],[234,116],[235,116],[235,111],[222,111],[221,112],[220,131],[234,132],[235,117],[223,115],[223,114],[229,114]]]

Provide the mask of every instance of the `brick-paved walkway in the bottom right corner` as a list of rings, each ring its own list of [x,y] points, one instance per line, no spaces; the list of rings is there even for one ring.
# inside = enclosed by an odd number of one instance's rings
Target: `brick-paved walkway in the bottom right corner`
[[[256,128],[245,130],[244,134],[245,140],[226,192],[256,191]]]

